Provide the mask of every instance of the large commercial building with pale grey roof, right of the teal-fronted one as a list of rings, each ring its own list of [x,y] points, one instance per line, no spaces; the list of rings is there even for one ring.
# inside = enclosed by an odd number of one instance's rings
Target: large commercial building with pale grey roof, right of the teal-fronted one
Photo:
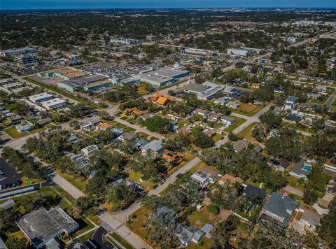
[[[140,72],[136,78],[141,82],[150,83],[154,87],[163,87],[175,83],[180,78],[186,77],[190,71],[182,70],[177,65],[165,66],[160,69],[148,69]]]

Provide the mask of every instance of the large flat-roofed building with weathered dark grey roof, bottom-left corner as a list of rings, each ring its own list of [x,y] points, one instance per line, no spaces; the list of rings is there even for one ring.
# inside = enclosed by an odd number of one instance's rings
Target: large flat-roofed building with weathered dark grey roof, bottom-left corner
[[[57,243],[55,238],[75,231],[79,225],[58,206],[56,208],[39,208],[23,215],[16,222],[35,248],[43,248]]]

